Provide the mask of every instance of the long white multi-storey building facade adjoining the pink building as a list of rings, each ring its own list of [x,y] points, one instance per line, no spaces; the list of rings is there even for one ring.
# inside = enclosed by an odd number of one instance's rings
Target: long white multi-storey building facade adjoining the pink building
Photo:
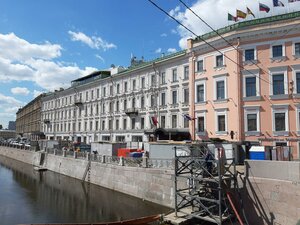
[[[181,51],[128,69],[97,71],[47,94],[42,131],[47,139],[85,143],[184,140],[188,113],[189,61]]]

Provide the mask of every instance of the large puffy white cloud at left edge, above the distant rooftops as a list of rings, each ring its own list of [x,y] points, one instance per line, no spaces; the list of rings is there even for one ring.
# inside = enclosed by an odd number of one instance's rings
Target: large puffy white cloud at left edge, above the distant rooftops
[[[0,82],[31,81],[43,89],[54,90],[96,70],[54,62],[54,58],[61,56],[61,46],[29,43],[13,33],[0,34],[0,49]]]

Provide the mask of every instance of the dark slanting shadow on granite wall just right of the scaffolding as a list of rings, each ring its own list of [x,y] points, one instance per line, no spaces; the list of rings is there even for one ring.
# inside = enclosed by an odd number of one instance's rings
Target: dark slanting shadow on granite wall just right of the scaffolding
[[[242,200],[249,225],[273,225],[275,216],[271,212],[260,187],[255,181],[249,180],[249,168],[249,164],[245,162],[245,176],[240,176],[243,182],[243,187],[241,188]]]

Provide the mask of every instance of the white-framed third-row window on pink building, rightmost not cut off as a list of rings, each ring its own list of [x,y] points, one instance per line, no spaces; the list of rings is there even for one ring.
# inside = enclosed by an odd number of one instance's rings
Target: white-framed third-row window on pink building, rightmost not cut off
[[[289,105],[272,105],[272,126],[274,135],[289,135],[288,127],[288,108]]]

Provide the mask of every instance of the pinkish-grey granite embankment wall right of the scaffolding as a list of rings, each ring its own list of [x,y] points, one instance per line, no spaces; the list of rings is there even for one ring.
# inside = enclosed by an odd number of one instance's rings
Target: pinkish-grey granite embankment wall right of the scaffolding
[[[245,162],[242,198],[249,224],[300,225],[300,162]]]

